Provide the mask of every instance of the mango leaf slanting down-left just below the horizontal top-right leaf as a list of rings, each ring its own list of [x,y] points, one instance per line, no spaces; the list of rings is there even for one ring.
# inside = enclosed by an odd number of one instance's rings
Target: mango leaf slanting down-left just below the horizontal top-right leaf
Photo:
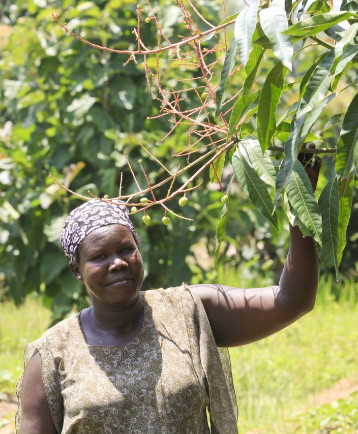
[[[335,53],[332,50],[326,57],[323,57],[318,63],[309,78],[304,89],[299,107],[297,108],[296,115],[302,117],[312,109],[314,109],[319,101],[321,101],[327,94],[330,88],[332,74],[330,72]]]

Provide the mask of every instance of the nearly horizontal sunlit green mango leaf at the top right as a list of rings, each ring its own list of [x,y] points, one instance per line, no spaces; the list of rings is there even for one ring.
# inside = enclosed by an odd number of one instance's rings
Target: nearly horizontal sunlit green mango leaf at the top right
[[[341,21],[349,18],[358,18],[358,15],[352,12],[329,12],[325,14],[314,15],[313,17],[299,21],[291,25],[283,32],[284,35],[291,35],[295,39],[307,38],[323,32],[326,28],[332,27]]]

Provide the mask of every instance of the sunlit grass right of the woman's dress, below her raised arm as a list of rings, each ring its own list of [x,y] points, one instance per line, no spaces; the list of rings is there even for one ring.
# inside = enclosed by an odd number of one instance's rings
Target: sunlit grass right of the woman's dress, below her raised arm
[[[331,302],[275,335],[230,349],[240,432],[294,432],[290,419],[315,395],[357,376],[357,324],[354,306]]]

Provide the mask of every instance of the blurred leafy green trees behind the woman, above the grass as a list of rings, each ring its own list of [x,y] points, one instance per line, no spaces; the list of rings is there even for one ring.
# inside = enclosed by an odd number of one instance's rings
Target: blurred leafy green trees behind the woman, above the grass
[[[154,5],[168,34],[176,35],[182,21],[178,8],[164,0]],[[124,187],[130,193],[135,191],[135,185],[123,157],[124,148],[131,160],[142,158],[151,181],[164,176],[162,170],[141,153],[135,138],[169,168],[176,164],[171,154],[187,143],[187,132],[179,128],[160,146],[156,145],[170,126],[160,118],[146,119],[158,114],[158,104],[146,90],[140,62],[124,67],[126,59],[122,56],[83,45],[64,34],[49,19],[50,12],[61,11],[69,28],[83,37],[95,43],[125,48],[134,41],[135,7],[133,2],[122,0],[76,4],[18,0],[5,2],[3,6],[1,294],[20,302],[26,294],[40,291],[45,294],[45,303],[52,305],[55,318],[72,308],[82,307],[87,300],[83,288],[68,273],[65,257],[58,249],[65,216],[80,202],[59,188],[48,178],[48,173],[52,172],[76,192],[91,189],[98,195],[115,196],[120,172],[124,171]],[[205,2],[202,12],[208,19],[215,16],[217,21],[219,11],[219,3],[212,0]],[[142,28],[142,36],[156,43],[156,28],[152,23]],[[306,51],[306,57],[302,57],[294,71],[297,77],[304,75],[314,56],[314,50]],[[265,71],[267,74],[272,65],[273,59],[268,56],[257,77],[261,85]],[[178,71],[166,63],[165,58],[161,59],[160,71],[171,85],[177,85]],[[195,70],[181,71],[181,74],[189,77]],[[245,72],[239,71],[229,86],[242,85],[244,79]],[[335,112],[344,111],[346,101],[336,100]],[[186,104],[191,105],[188,97]],[[287,105],[290,105],[289,100]],[[326,140],[331,136],[327,135]],[[134,170],[138,171],[138,167]],[[331,177],[332,170],[331,159],[325,158],[318,191],[326,183],[324,174]],[[230,175],[228,165],[223,171],[224,186]],[[137,176],[144,183],[141,175]],[[186,215],[194,218],[193,223],[172,219],[170,226],[164,227],[162,214],[158,212],[152,214],[153,224],[143,228],[137,216],[133,217],[143,240],[144,289],[224,277],[226,271],[214,270],[212,259],[220,197],[218,186],[209,182],[206,173],[203,188],[190,196],[191,206]],[[230,208],[234,212],[229,214],[224,236],[222,270],[232,266],[244,279],[256,273],[264,276],[267,284],[277,280],[287,251],[287,221],[281,209],[278,209],[279,231],[276,231],[264,221],[236,183],[232,185]],[[356,276],[355,200],[352,212],[348,231],[351,242],[341,269]],[[255,278],[245,279],[245,284],[255,286]]]

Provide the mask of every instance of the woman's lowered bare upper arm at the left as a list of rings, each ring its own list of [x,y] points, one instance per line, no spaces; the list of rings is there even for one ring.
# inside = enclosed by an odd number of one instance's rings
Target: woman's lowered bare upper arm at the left
[[[41,375],[41,358],[35,350],[29,360],[21,384],[22,434],[57,434],[48,405]]]

